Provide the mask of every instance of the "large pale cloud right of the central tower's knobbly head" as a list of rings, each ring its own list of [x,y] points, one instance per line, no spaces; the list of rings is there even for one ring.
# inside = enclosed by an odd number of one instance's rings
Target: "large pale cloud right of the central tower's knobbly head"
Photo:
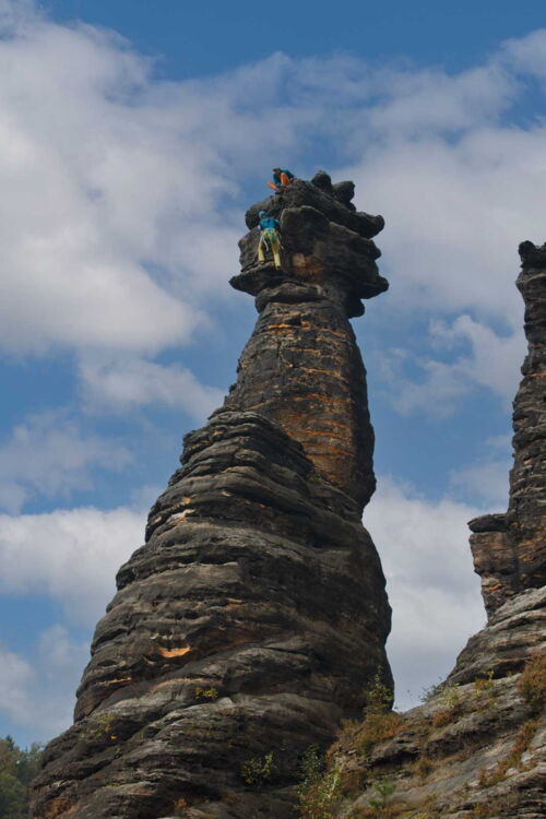
[[[544,237],[546,129],[479,127],[456,140],[425,134],[367,151],[347,170],[357,201],[382,212],[379,244],[391,307],[472,310],[521,325],[518,245]]]

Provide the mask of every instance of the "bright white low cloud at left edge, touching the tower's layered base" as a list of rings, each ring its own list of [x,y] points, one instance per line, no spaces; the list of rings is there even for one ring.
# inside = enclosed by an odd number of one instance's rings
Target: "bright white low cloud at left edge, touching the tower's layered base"
[[[93,626],[116,572],[143,541],[145,515],[120,508],[0,515],[0,591],[56,600],[71,622]]]

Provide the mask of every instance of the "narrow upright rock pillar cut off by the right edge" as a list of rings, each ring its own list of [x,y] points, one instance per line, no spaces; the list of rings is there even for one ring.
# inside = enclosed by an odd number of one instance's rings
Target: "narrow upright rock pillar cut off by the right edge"
[[[546,582],[546,245],[520,245],[517,285],[525,302],[529,352],[513,408],[514,463],[506,514],[470,522],[474,567],[488,614]]]

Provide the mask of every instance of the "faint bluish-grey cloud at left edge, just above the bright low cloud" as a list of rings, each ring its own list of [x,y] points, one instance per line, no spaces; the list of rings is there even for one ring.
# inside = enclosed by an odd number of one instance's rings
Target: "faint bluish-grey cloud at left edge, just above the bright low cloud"
[[[132,460],[115,440],[82,430],[60,411],[31,415],[0,444],[0,509],[17,511],[36,495],[69,497],[93,486],[93,470],[122,470]]]

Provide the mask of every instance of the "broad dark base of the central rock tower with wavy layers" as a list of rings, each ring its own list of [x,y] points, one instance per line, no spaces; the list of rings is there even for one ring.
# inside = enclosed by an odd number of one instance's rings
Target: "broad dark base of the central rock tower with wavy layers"
[[[219,413],[117,583],[32,817],[293,817],[302,751],[392,681],[358,506],[277,424]]]

